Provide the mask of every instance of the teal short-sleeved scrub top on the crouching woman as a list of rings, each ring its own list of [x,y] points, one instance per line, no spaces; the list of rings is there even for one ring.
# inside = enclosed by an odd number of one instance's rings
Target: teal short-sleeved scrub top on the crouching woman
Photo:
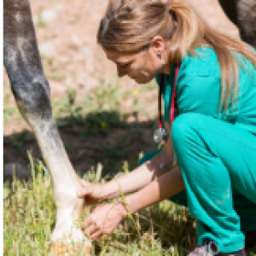
[[[198,55],[186,55],[183,58],[177,75],[178,114],[195,112],[210,115],[256,135],[256,68],[253,63],[240,58],[242,65],[239,66],[239,98],[235,108],[230,107],[224,112],[218,108],[221,92],[218,57],[213,49],[207,47],[196,49],[196,53]],[[175,66],[172,65],[169,76],[164,74],[161,92],[165,102],[165,120],[169,123]],[[160,74],[156,76],[158,84],[159,79]]]

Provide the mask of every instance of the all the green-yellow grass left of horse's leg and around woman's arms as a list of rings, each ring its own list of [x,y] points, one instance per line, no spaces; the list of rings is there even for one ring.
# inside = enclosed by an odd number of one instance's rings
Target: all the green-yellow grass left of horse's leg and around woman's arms
[[[50,177],[42,161],[29,157],[29,180],[20,180],[14,173],[13,182],[4,183],[4,255],[47,255],[49,248],[55,224]],[[118,175],[129,171],[124,162]],[[102,165],[98,164],[83,178],[106,183],[113,177],[102,177]],[[196,243],[193,222],[186,208],[164,201],[129,215],[104,241],[94,241],[93,255],[186,255]]]

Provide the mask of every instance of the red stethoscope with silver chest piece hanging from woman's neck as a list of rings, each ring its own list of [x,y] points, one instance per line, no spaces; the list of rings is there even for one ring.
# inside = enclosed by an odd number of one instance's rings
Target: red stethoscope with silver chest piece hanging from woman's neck
[[[177,63],[175,67],[175,77],[174,77],[174,83],[173,83],[173,93],[172,93],[172,106],[170,111],[170,121],[171,126],[172,122],[174,120],[174,113],[177,113],[177,104],[176,104],[176,80],[177,80],[177,73],[180,67],[180,63]],[[162,124],[162,113],[161,113],[161,91],[162,91],[162,84],[163,84],[163,77],[164,75],[160,74],[160,83],[159,83],[159,94],[158,94],[158,126],[159,128],[154,131],[154,142],[160,143],[161,145],[164,145],[168,139],[168,131],[165,127],[163,127]]]

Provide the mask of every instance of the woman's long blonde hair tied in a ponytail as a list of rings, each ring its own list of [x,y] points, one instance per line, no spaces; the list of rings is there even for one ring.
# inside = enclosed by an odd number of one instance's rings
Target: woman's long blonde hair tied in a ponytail
[[[165,40],[170,62],[182,61],[188,54],[196,55],[198,47],[214,49],[221,69],[219,108],[229,108],[230,96],[234,105],[239,89],[238,66],[242,62],[238,56],[252,61],[255,67],[256,53],[247,44],[212,29],[187,3],[110,0],[97,42],[104,49],[129,54],[147,49],[156,35]]]

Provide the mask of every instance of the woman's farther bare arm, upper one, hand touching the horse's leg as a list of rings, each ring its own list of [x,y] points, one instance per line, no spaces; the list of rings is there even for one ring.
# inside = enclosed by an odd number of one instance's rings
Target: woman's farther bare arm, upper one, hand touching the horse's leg
[[[166,130],[171,131],[170,125],[165,124]],[[154,178],[160,177],[166,172],[171,172],[173,164],[173,149],[172,137],[169,133],[168,140],[163,150],[156,154],[151,160],[148,160],[142,166],[137,167],[134,171],[126,173],[120,177],[111,180],[104,184],[93,184],[80,180],[83,189],[78,191],[79,197],[85,197],[87,204],[96,204],[103,201],[108,201],[119,197],[119,190],[123,195],[136,192],[148,183],[152,182]],[[165,163],[166,168],[161,169],[160,164]]]

